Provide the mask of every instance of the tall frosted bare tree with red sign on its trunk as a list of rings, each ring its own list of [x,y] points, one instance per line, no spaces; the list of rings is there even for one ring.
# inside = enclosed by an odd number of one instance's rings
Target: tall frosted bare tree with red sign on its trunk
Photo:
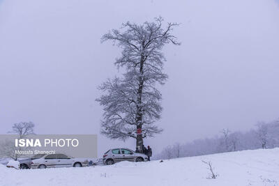
[[[168,23],[164,29],[163,18],[159,17],[141,25],[127,22],[103,36],[102,42],[112,40],[122,49],[114,64],[125,72],[122,78],[108,79],[99,87],[105,92],[96,99],[105,111],[101,134],[110,139],[134,138],[142,151],[143,138],[162,132],[155,125],[163,109],[156,84],[165,84],[167,79],[162,72],[163,47],[169,42],[180,45],[172,35],[177,25]]]

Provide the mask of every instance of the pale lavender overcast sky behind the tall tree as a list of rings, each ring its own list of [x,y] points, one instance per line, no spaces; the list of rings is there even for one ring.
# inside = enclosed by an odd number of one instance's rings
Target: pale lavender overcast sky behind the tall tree
[[[0,0],[0,134],[33,121],[37,134],[100,134],[97,86],[119,75],[119,49],[100,43],[122,22],[161,15],[179,22],[181,46],[165,47],[164,132],[153,150],[249,130],[279,117],[278,0]],[[135,141],[98,135],[108,148]]]

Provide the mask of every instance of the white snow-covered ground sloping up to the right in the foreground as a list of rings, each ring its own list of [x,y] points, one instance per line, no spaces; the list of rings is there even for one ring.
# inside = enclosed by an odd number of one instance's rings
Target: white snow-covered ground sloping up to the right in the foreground
[[[218,178],[207,179],[202,160],[212,162]],[[16,170],[0,165],[0,185],[278,186],[279,148],[84,168]]]

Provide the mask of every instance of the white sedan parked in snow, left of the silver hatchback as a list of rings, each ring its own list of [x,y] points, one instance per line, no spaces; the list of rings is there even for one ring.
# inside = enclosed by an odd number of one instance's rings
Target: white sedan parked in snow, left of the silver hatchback
[[[75,158],[64,154],[50,154],[44,155],[36,160],[32,160],[31,169],[82,167],[87,165],[88,160],[84,158]]]

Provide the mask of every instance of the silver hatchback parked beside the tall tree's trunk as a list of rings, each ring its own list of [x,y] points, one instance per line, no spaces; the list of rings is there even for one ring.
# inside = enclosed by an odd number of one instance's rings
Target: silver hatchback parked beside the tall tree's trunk
[[[113,148],[107,150],[105,155],[103,155],[104,164],[114,164],[121,161],[130,162],[146,162],[147,156],[142,153],[135,153],[133,150],[128,148]]]

